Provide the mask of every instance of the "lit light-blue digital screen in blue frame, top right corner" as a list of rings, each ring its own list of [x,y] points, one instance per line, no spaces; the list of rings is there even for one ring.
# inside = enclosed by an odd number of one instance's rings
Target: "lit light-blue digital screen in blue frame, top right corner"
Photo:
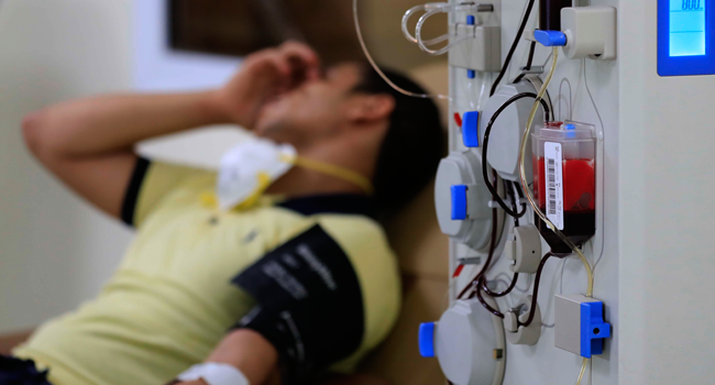
[[[706,0],[670,0],[670,56],[705,55]]]

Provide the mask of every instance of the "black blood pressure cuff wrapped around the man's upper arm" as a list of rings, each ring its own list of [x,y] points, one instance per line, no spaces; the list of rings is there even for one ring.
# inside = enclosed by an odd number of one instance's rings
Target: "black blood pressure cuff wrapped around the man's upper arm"
[[[235,328],[258,332],[278,350],[284,385],[305,382],[362,343],[358,276],[320,226],[267,253],[233,284],[257,301]]]

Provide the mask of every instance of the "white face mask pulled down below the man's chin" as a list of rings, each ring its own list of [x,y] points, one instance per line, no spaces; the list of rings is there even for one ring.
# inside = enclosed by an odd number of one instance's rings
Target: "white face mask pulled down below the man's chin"
[[[222,160],[217,183],[221,210],[230,210],[261,197],[272,183],[285,175],[297,158],[296,148],[263,139],[243,142]]]

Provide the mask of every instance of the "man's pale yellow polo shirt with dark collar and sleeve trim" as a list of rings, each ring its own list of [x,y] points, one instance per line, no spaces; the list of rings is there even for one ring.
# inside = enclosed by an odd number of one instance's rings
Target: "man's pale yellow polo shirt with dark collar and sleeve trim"
[[[356,197],[263,199],[243,212],[207,201],[216,174],[140,160],[124,218],[134,242],[99,296],[52,320],[14,353],[50,369],[54,385],[161,385],[204,361],[256,301],[231,279],[319,226],[342,249],[363,305],[348,372],[389,332],[400,306],[396,258]]]

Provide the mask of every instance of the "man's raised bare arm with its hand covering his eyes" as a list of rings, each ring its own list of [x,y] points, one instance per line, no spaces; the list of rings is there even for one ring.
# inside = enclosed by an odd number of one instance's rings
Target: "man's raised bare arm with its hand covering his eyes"
[[[50,107],[23,123],[32,153],[68,187],[119,218],[143,140],[198,127],[235,123],[250,129],[266,100],[296,85],[296,72],[318,74],[307,46],[286,43],[246,58],[223,88],[183,95],[123,95]]]

